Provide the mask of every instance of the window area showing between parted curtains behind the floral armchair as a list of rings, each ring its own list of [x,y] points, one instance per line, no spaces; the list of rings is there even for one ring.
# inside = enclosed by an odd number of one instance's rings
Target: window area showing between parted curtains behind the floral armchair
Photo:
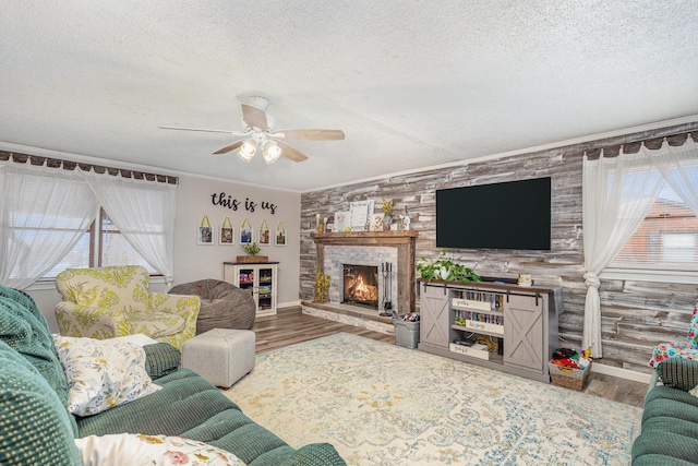
[[[133,264],[143,265],[151,275],[159,275],[159,272],[129,244],[104,208],[100,208],[85,235],[44,278],[56,278],[56,275],[65,268]]]

